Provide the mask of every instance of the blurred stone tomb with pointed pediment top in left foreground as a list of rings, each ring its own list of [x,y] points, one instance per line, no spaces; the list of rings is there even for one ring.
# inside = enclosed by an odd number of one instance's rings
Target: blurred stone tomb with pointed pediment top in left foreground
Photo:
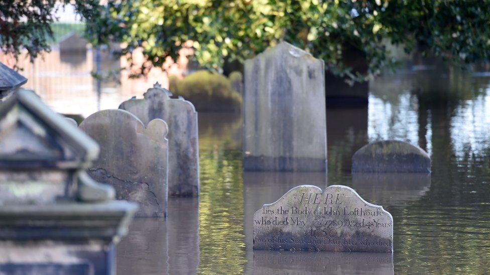
[[[98,152],[32,91],[0,104],[1,273],[115,273],[137,205],[86,174]]]

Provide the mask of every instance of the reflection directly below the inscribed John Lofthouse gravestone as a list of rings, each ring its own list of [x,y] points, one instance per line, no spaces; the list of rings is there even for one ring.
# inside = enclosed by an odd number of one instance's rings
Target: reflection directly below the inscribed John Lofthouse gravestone
[[[393,254],[254,250],[254,274],[394,274]]]

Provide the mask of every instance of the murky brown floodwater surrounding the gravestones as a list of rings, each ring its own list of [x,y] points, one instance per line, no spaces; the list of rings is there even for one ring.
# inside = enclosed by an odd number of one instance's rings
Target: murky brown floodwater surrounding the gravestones
[[[34,76],[26,86],[49,83],[46,77]],[[96,111],[97,99],[102,109],[117,108],[132,95],[114,84],[97,96],[89,81],[80,84],[89,87],[79,94],[72,89],[38,93],[57,111],[84,115]],[[117,248],[118,273],[489,272],[490,78],[415,72],[386,75],[370,86],[368,108],[327,112],[328,175],[243,173],[240,116],[199,114],[200,199],[169,200],[167,221],[136,219]],[[352,153],[379,139],[426,149],[432,175],[352,178]],[[299,184],[327,182],[352,186],[392,213],[393,255],[251,249],[252,216],[263,203]]]

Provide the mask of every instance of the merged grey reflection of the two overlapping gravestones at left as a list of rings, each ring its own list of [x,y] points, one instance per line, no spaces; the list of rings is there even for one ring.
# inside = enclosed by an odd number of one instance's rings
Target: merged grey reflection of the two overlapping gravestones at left
[[[195,274],[199,264],[199,200],[169,198],[163,218],[137,218],[117,246],[122,274]]]

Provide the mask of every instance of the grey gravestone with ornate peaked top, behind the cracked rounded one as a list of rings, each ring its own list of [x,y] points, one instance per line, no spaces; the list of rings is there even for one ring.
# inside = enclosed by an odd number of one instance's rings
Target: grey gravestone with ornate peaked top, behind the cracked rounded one
[[[145,125],[152,119],[165,120],[169,126],[169,195],[199,196],[199,145],[197,112],[194,105],[172,94],[157,83],[144,99],[132,98],[119,109],[136,115]]]

